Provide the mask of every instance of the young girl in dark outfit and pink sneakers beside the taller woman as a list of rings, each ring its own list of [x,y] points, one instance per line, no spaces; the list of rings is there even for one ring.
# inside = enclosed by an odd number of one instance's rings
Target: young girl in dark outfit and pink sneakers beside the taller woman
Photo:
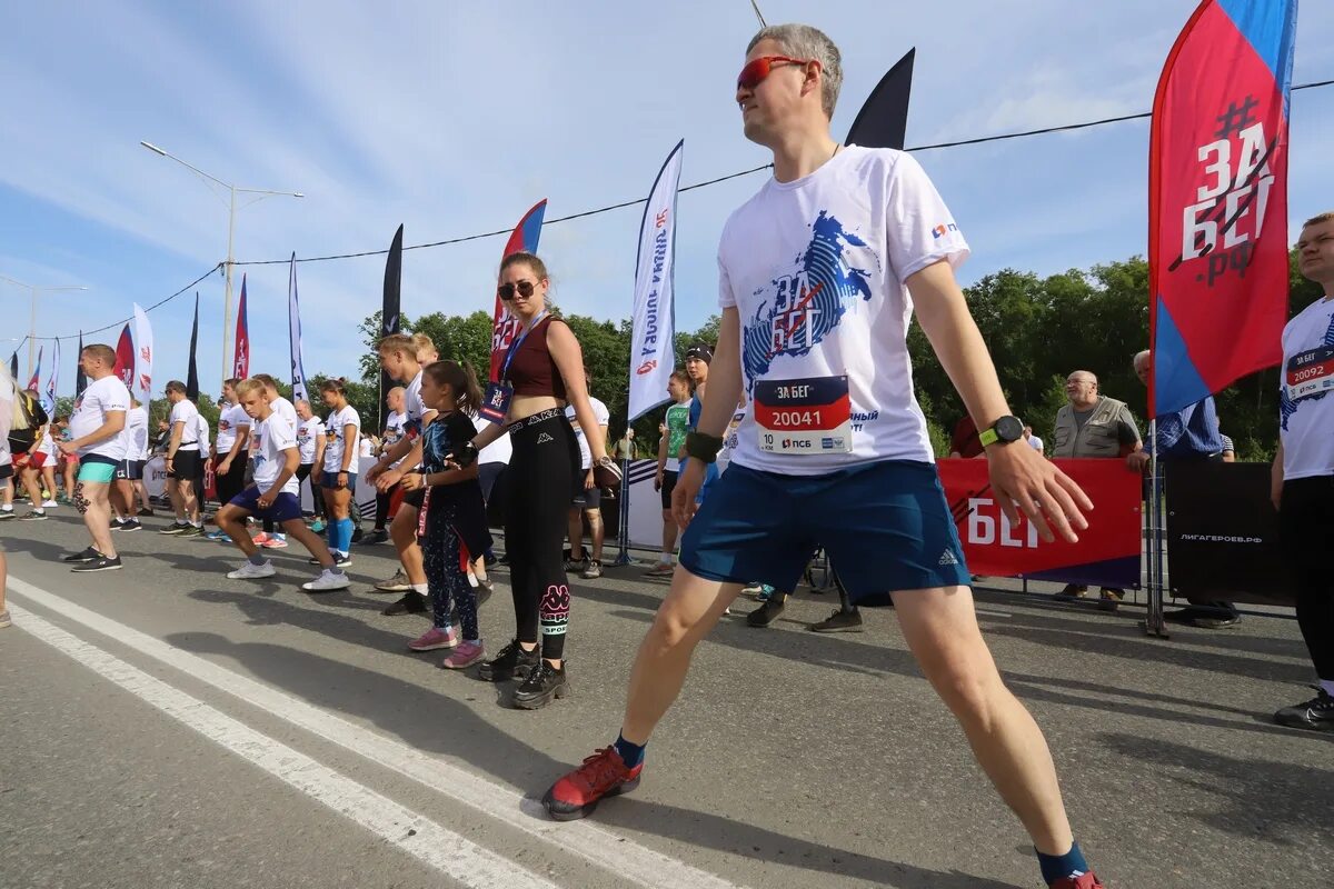
[[[447,461],[476,435],[468,415],[476,412],[480,399],[471,368],[436,361],[422,369],[422,401],[438,415],[422,432],[422,472],[407,473],[400,481],[406,490],[426,489],[418,528],[432,614],[431,629],[408,642],[408,648],[414,652],[452,648],[440,661],[446,669],[471,666],[484,652],[468,562],[491,545],[487,508],[476,464],[458,468]],[[462,641],[450,624],[452,608],[458,608]]]

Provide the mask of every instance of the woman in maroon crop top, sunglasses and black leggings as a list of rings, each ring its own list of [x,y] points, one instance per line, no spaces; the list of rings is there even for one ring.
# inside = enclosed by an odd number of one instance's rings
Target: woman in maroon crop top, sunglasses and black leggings
[[[579,340],[547,312],[550,285],[547,267],[531,253],[514,253],[500,264],[498,295],[523,325],[502,360],[500,385],[512,387],[512,396],[506,424],[472,440],[480,450],[508,431],[514,445],[506,470],[504,544],[518,637],[484,662],[479,676],[494,682],[522,680],[514,704],[530,710],[568,690],[570,581],[563,548],[566,514],[582,472],[566,404],[574,405],[579,425],[588,431],[594,461],[612,462],[588,404]]]

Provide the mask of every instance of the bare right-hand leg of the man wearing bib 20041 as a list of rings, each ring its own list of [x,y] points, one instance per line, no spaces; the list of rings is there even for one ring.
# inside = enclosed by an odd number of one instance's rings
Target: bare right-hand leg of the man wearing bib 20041
[[[958,717],[978,762],[1038,852],[1074,845],[1042,730],[1005,686],[967,586],[894,593],[899,626],[927,681]]]

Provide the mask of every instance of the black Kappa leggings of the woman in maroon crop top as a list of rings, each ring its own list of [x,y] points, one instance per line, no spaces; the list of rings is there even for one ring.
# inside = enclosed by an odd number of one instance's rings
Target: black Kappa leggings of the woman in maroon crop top
[[[575,494],[579,445],[559,408],[510,427],[514,456],[506,470],[504,545],[520,642],[538,641],[542,656],[564,656],[570,626],[570,581],[566,578],[566,510]]]

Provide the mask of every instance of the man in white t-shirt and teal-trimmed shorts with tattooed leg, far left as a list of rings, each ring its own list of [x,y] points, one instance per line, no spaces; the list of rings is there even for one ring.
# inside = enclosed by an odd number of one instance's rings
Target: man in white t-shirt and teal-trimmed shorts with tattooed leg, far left
[[[116,351],[109,345],[84,347],[79,367],[88,377],[88,388],[75,400],[69,441],[56,446],[65,456],[79,457],[73,500],[92,536],[92,546],[63,560],[76,572],[115,570],[120,568],[120,556],[111,538],[109,492],[128,446],[129,389],[115,373]]]

